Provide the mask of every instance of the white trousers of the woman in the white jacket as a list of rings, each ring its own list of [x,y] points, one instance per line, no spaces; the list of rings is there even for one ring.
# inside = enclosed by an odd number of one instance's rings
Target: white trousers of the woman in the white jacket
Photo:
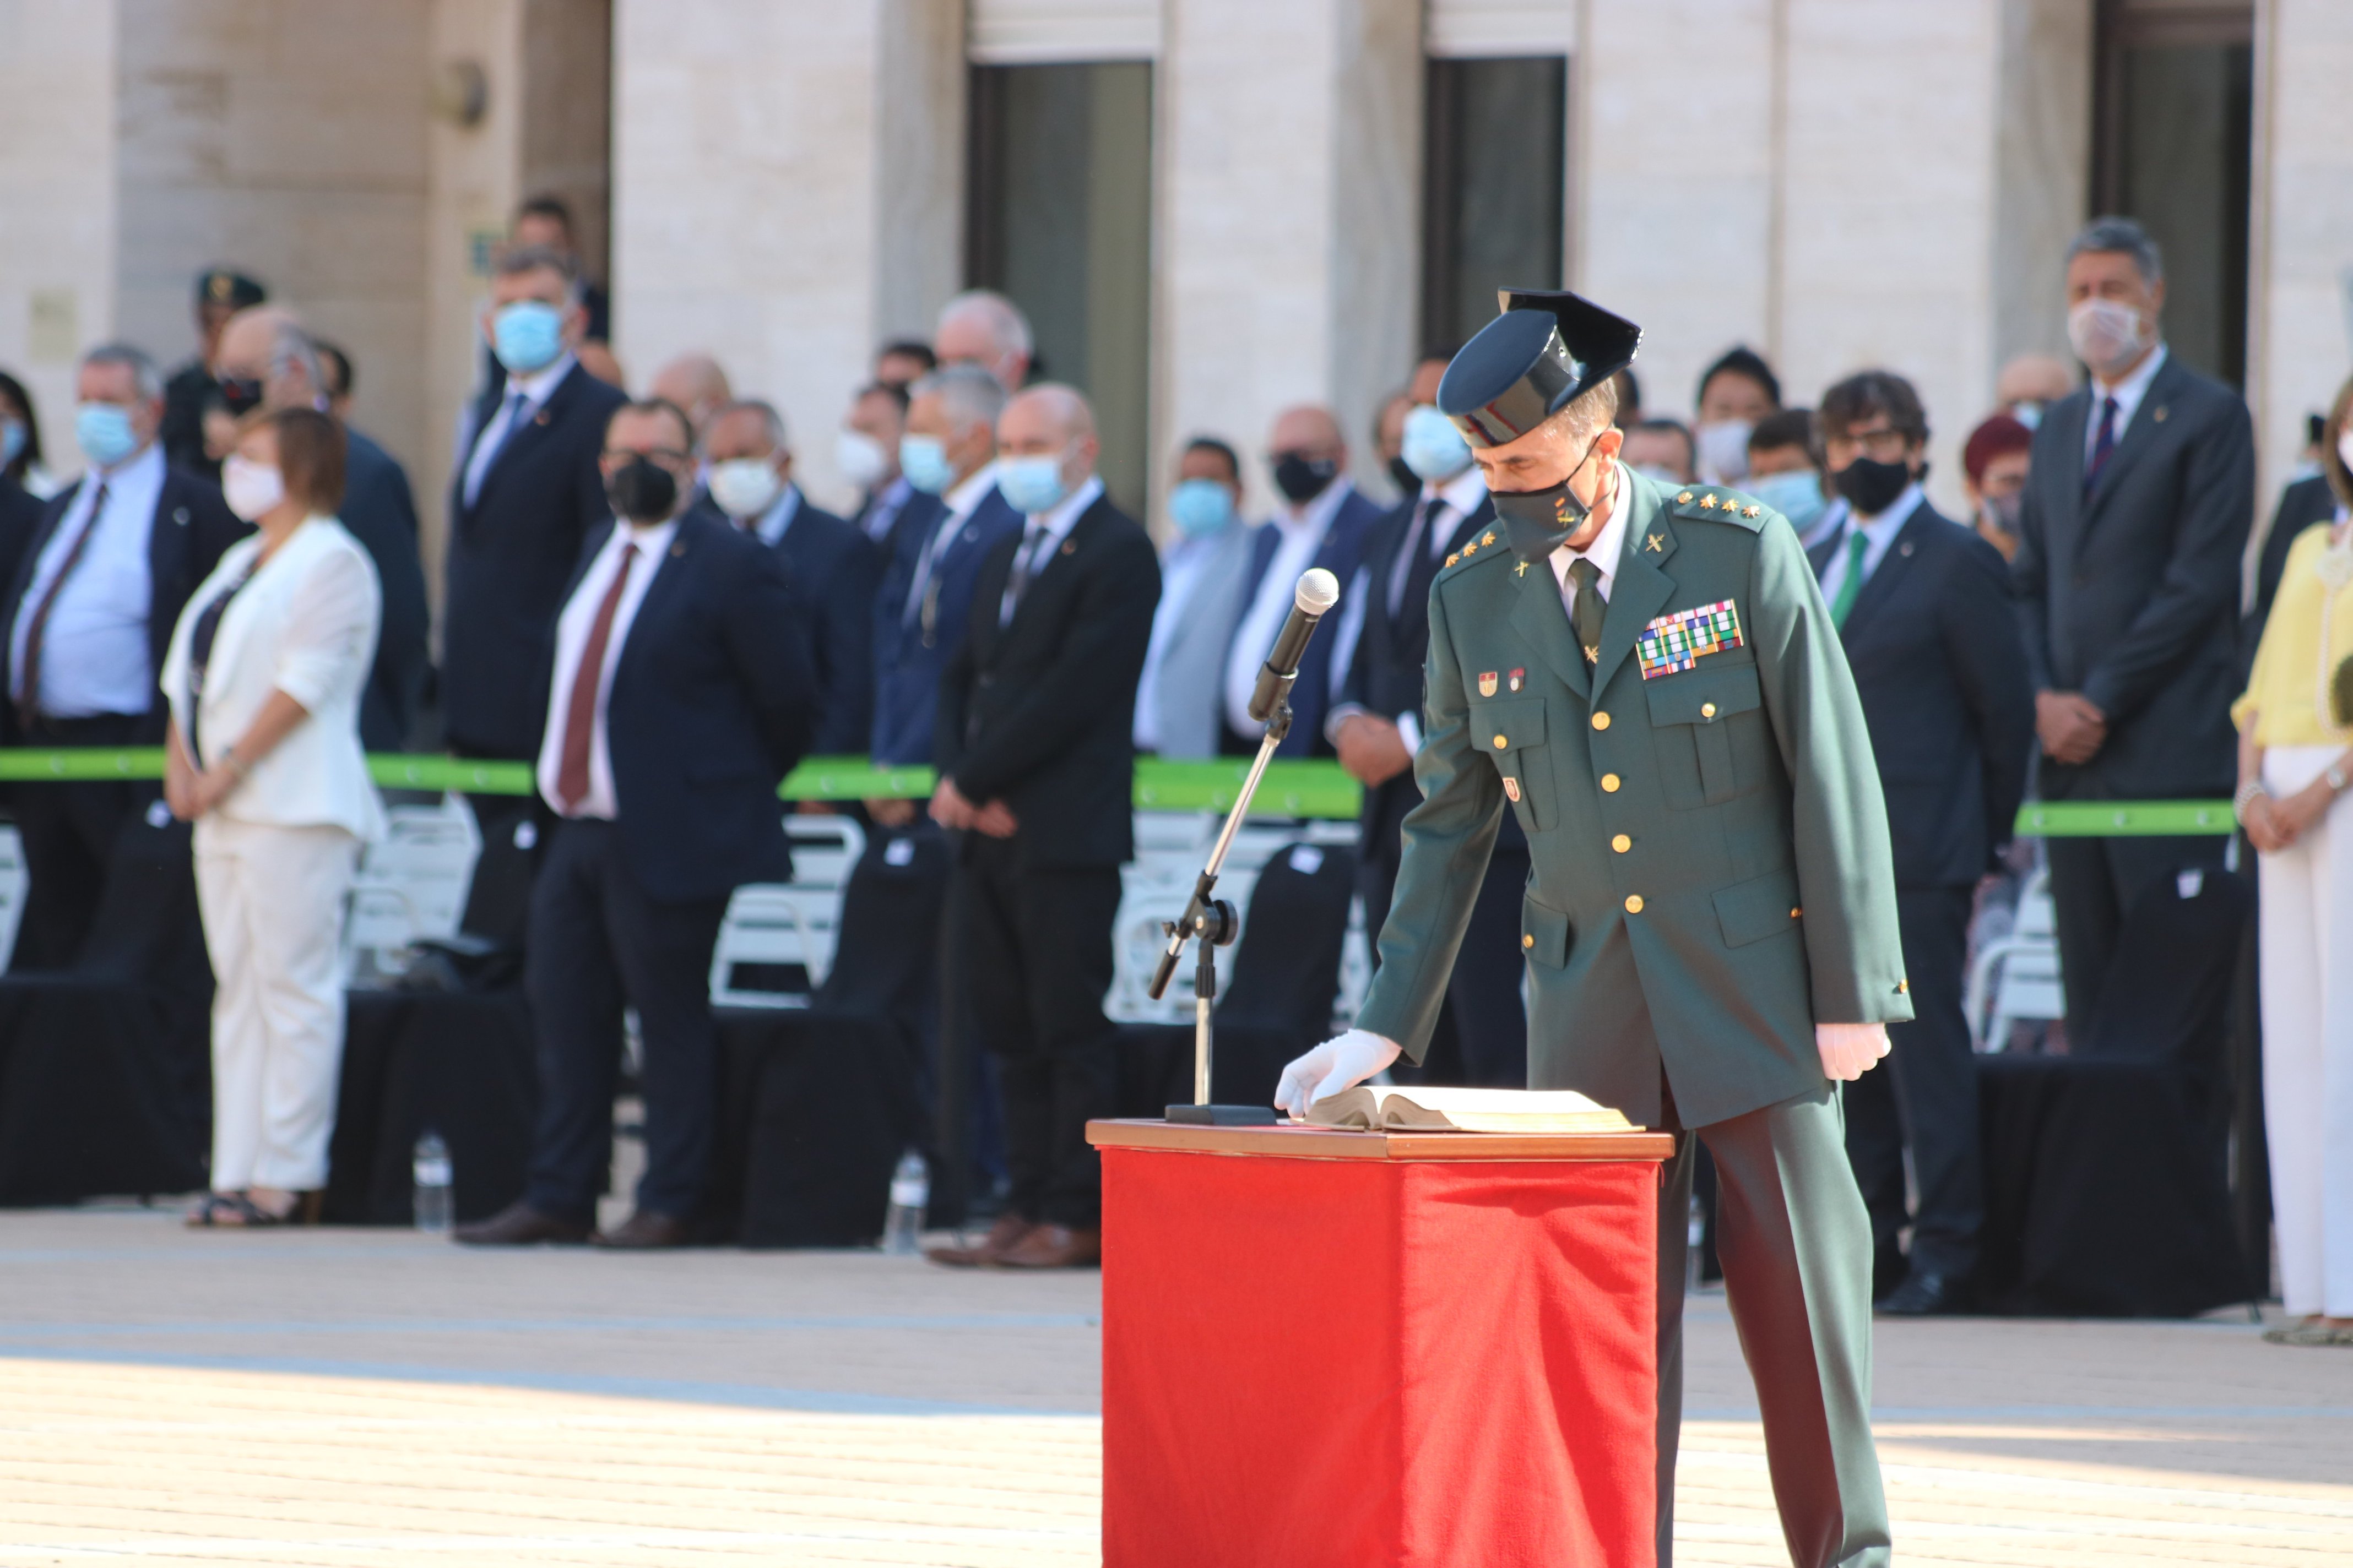
[[[344,903],[360,839],[207,816],[195,898],[212,950],[212,1190],[327,1185],[344,1072]]]

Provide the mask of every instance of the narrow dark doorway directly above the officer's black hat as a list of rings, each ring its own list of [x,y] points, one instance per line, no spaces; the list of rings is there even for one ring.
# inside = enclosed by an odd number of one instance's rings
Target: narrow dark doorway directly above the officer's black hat
[[[1560,287],[1569,61],[1433,59],[1424,113],[1421,341],[1459,343],[1497,289]]]

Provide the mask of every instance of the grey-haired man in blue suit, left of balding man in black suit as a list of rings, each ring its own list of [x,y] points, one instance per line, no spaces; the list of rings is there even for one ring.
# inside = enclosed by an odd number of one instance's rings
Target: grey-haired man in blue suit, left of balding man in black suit
[[[1021,531],[1021,515],[998,494],[995,421],[1005,388],[976,364],[936,369],[913,388],[901,465],[925,491],[899,524],[899,550],[875,595],[878,764],[932,762],[939,677],[965,639],[972,585],[988,550]],[[906,804],[868,804],[899,825]],[[892,820],[896,816],[899,820]]]

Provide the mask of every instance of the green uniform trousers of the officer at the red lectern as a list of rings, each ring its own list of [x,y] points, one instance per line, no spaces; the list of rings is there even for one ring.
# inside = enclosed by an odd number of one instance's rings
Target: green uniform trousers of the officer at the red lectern
[[[1885,1072],[1885,1067],[1880,1067]],[[1675,1133],[1659,1194],[1659,1568],[1675,1552],[1682,1281],[1694,1138],[1715,1157],[1715,1248],[1765,1418],[1765,1467],[1795,1568],[1885,1568],[1887,1495],[1871,1443],[1871,1215],[1847,1164],[1838,1086]]]

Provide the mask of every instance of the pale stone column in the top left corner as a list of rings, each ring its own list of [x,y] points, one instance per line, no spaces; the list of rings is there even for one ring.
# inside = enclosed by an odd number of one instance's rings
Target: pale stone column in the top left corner
[[[0,7],[0,364],[40,404],[49,468],[82,468],[73,364],[115,334],[115,2]]]

